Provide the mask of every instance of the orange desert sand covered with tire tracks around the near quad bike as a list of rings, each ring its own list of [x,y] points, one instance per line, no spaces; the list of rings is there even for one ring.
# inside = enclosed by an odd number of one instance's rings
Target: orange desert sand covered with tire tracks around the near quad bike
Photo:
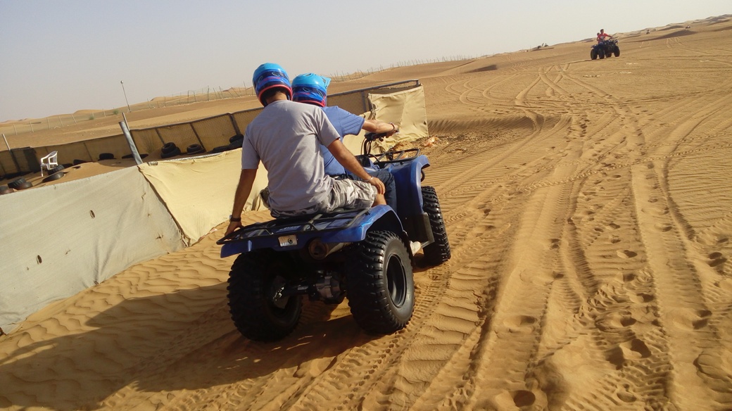
[[[405,330],[313,303],[282,342],[244,339],[218,232],[2,337],[0,407],[731,409],[730,29],[374,75],[425,84],[452,245]]]

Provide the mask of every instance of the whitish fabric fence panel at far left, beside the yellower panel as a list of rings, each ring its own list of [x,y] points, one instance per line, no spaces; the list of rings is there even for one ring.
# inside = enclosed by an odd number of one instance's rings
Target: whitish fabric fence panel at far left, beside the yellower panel
[[[184,247],[137,167],[0,196],[0,328]]]

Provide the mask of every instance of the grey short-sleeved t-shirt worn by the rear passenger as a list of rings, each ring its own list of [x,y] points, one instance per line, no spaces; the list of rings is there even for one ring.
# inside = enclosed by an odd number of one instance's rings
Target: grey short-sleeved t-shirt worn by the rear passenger
[[[330,192],[333,180],[325,174],[319,147],[339,137],[321,108],[277,100],[247,126],[242,169],[255,169],[261,160],[269,178],[269,206],[302,210]]]

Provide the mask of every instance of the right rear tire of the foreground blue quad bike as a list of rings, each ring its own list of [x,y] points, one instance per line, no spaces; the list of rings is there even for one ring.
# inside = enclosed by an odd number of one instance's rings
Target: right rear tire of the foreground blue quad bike
[[[348,306],[368,333],[404,328],[414,312],[414,276],[406,246],[396,233],[374,231],[354,244],[346,270]]]

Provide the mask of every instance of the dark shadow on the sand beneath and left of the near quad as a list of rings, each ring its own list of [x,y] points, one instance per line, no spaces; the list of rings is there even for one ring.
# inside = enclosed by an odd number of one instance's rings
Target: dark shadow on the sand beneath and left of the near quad
[[[234,328],[225,284],[127,299],[89,319],[91,331],[26,345],[19,338],[21,347],[0,359],[0,408],[93,410],[129,385],[209,388],[335,357],[374,338],[350,315],[331,320],[333,309],[306,298],[294,333],[258,343]],[[33,331],[22,332],[30,339]]]

